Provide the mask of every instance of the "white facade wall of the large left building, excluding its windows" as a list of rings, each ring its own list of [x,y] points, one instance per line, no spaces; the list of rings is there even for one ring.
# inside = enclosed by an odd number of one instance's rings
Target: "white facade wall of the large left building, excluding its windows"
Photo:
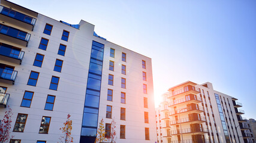
[[[0,86],[6,87],[5,94],[10,94],[7,105],[13,110],[11,135],[13,139],[32,143],[37,141],[58,142],[62,135],[62,127],[67,115],[73,120],[71,136],[74,142],[80,142],[83,111],[85,107],[86,86],[92,50],[92,41],[104,45],[104,58],[100,90],[100,106],[98,108],[98,124],[101,119],[111,123],[106,118],[107,105],[112,106],[112,118],[115,117],[117,139],[116,142],[155,142],[155,110],[153,101],[153,81],[151,59],[138,54],[115,43],[94,36],[94,25],[81,20],[79,29],[68,26],[60,21],[53,20],[34,11],[20,7],[8,1],[1,1],[1,5],[11,10],[29,15],[36,19],[34,30],[19,24],[19,21],[6,16],[0,18],[5,26],[31,34],[28,46],[15,42],[0,34],[0,42],[21,48],[25,52],[22,64],[13,62],[10,57],[0,58],[0,63],[15,67],[18,71],[14,85],[8,80],[1,79]],[[46,24],[52,25],[52,32],[44,32]],[[62,33],[69,32],[68,41],[62,40]],[[39,49],[41,38],[49,39],[47,49]],[[16,38],[17,39],[17,38]],[[66,45],[65,56],[59,55],[60,44]],[[115,49],[115,58],[110,57],[110,48]],[[1,50],[1,49],[0,49]],[[126,54],[126,62],[122,61],[122,52]],[[0,51],[1,54],[1,51]],[[43,54],[41,67],[33,66],[35,56]],[[54,71],[56,59],[62,60],[61,72]],[[109,70],[109,62],[115,62],[115,70]],[[146,69],[142,68],[142,60],[146,62]],[[126,66],[126,74],[122,74],[122,64]],[[28,85],[31,71],[39,73],[36,86]],[[143,71],[146,72],[146,81],[143,80]],[[113,74],[113,85],[108,85],[109,74]],[[58,89],[49,89],[52,76],[59,77]],[[121,88],[121,78],[126,79],[126,88]],[[143,93],[143,84],[147,85],[147,94]],[[108,89],[113,90],[113,101],[107,101]],[[21,107],[25,91],[34,92],[30,107]],[[125,92],[125,104],[121,103],[121,92]],[[44,110],[47,95],[54,95],[53,110]],[[144,97],[148,107],[144,107]],[[121,120],[121,107],[125,108],[125,120]],[[7,108],[0,108],[0,119],[4,117]],[[149,123],[144,123],[144,112],[149,114]],[[23,132],[13,132],[18,114],[28,114]],[[48,133],[38,133],[43,116],[51,117]],[[125,139],[120,139],[120,125],[125,125]],[[149,140],[145,139],[145,128],[149,128]]]

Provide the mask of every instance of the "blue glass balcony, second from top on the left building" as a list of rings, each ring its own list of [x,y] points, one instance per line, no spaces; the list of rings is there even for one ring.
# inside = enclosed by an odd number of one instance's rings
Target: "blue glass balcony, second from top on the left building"
[[[30,34],[22,30],[0,24],[0,39],[22,46],[28,46]]]

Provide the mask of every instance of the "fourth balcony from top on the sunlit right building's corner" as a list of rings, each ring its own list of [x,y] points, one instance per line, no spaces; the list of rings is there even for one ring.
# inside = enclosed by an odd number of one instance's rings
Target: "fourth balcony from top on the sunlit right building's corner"
[[[170,125],[176,125],[181,123],[203,123],[206,122],[206,119],[204,116],[198,117],[198,118],[182,118],[180,120],[171,120]]]

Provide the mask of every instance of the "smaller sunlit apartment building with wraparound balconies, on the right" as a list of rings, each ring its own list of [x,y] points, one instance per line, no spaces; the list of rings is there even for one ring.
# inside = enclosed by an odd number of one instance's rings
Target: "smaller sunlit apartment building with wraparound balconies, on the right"
[[[242,125],[246,120],[241,116],[244,111],[237,109],[242,104],[236,100],[215,91],[209,82],[188,81],[168,89],[162,95],[160,115],[156,115],[164,129],[158,142],[245,142]]]

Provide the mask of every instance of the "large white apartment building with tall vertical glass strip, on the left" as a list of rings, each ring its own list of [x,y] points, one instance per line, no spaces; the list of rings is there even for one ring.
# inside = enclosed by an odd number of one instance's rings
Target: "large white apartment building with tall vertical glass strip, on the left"
[[[94,142],[100,120],[116,142],[156,142],[151,59],[72,25],[1,0],[0,119],[13,111],[15,143],[58,142],[71,115],[74,142]]]

